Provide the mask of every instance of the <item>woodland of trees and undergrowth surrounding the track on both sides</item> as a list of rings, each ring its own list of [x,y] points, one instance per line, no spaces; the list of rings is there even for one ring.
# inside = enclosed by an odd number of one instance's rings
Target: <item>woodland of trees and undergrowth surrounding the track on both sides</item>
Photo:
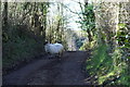
[[[92,84],[130,86],[130,1],[74,2],[80,11],[64,2],[1,2],[3,73],[46,53],[47,40],[60,41],[65,51],[90,51],[84,69]],[[70,27],[69,13],[80,30]]]

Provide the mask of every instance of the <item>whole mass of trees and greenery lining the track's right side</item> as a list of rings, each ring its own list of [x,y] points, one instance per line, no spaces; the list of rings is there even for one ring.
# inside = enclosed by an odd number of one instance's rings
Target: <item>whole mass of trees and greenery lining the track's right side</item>
[[[94,16],[89,15],[91,13],[91,7],[88,4],[84,8],[86,16],[83,21],[80,22],[83,29],[92,34],[91,37],[98,36],[94,40],[98,45],[93,46],[90,59],[87,61],[87,71],[90,77],[95,78],[95,83],[99,85],[128,85],[130,86],[130,73],[129,73],[129,50],[130,50],[130,33],[129,33],[129,21],[127,18],[126,4],[122,3],[122,13],[119,13],[119,17],[109,16],[115,9],[115,4],[100,3],[95,4],[95,17],[98,22],[98,29],[93,29],[90,22],[94,22]],[[120,3],[121,4],[121,3]],[[119,7],[117,4],[117,7]],[[121,12],[119,8],[119,12]],[[116,9],[114,10],[116,11]],[[101,14],[101,15],[99,15]],[[128,12],[129,14],[129,12]],[[122,17],[123,16],[123,17]],[[93,17],[93,20],[92,20]],[[106,20],[106,21],[105,21]],[[113,20],[113,21],[112,21]],[[110,22],[119,21],[118,30],[115,30],[115,25],[110,25]],[[105,22],[105,23],[103,23]],[[126,22],[126,23],[125,23]],[[127,23],[128,22],[128,23]],[[94,23],[93,23],[94,24]],[[88,30],[89,29],[89,30]],[[112,34],[108,34],[112,33]],[[93,40],[93,39],[92,39]],[[102,42],[101,42],[102,41]],[[91,45],[86,46],[90,47]],[[83,46],[83,48],[87,48]],[[83,49],[81,48],[81,49]],[[91,78],[90,78],[91,79]],[[90,82],[90,80],[89,80]],[[95,84],[94,80],[91,83]]]

